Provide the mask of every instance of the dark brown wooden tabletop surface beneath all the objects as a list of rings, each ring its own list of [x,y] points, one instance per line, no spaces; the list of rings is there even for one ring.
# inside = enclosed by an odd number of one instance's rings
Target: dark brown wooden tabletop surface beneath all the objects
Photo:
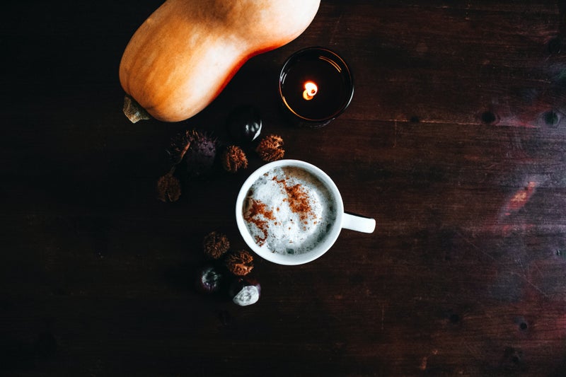
[[[323,0],[197,116],[132,124],[118,64],[160,3],[3,6],[1,375],[566,373],[564,1]],[[310,45],[355,75],[323,129],[277,107],[280,66]],[[377,220],[307,265],[256,258],[244,308],[193,282],[209,231],[246,247],[233,205],[262,161],[155,195],[171,137],[225,138],[243,103]]]

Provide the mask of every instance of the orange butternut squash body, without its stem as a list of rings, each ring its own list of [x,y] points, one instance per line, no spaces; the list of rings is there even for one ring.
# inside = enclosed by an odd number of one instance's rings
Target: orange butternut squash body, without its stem
[[[157,120],[203,110],[250,57],[291,42],[320,0],[167,0],[141,24],[120,62],[125,92]]]

